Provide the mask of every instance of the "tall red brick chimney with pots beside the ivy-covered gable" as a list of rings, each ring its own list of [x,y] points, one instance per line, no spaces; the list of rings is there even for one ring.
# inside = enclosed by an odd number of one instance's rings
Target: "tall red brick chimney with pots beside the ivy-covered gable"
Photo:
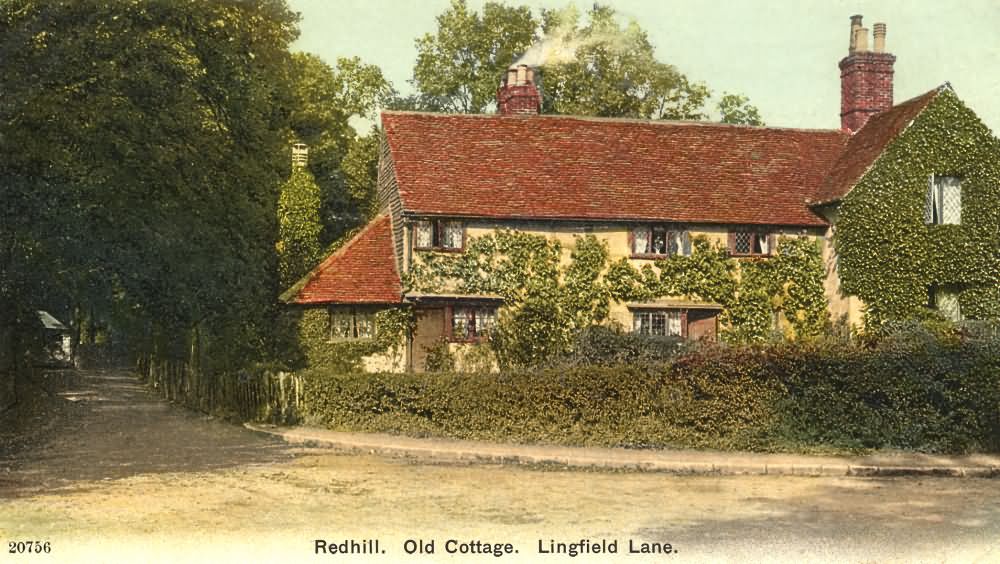
[[[874,50],[868,49],[868,28],[861,16],[851,16],[851,43],[840,61],[840,127],[854,133],[868,118],[892,107],[892,64],[885,52],[885,24],[875,24]]]

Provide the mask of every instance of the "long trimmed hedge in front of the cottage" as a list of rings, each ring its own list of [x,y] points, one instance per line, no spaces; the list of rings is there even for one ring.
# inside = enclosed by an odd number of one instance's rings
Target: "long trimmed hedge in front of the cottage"
[[[713,345],[662,363],[502,374],[303,376],[306,417],[339,429],[628,447],[1000,450],[995,331]]]

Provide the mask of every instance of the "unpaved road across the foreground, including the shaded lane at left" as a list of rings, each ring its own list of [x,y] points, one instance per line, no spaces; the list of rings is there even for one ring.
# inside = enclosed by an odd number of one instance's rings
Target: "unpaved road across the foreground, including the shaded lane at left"
[[[0,420],[0,562],[497,560],[448,554],[449,539],[509,542],[507,562],[1000,561],[995,480],[430,465],[291,449],[170,406],[123,373],[50,384],[44,409]],[[12,430],[33,439],[17,446]],[[584,538],[619,552],[539,553],[539,541]],[[378,539],[385,554],[316,555],[316,539]],[[407,555],[408,539],[433,540],[435,553]],[[52,552],[9,553],[28,540]],[[676,552],[629,555],[630,540]]]

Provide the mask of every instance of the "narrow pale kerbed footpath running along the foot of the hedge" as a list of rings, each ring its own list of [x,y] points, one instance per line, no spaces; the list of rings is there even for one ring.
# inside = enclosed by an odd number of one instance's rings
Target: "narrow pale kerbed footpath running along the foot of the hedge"
[[[863,456],[813,456],[567,447],[418,439],[382,433],[346,433],[312,427],[277,427],[251,423],[247,423],[245,427],[257,433],[281,437],[290,444],[434,462],[559,465],[672,474],[1000,478],[1000,456],[993,455],[938,456],[877,452]]]

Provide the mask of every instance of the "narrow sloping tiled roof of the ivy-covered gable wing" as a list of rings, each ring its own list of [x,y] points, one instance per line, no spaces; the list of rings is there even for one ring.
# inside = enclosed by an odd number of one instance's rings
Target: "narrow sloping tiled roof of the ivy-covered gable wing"
[[[847,147],[830,170],[816,202],[835,202],[847,195],[885,151],[889,142],[906,129],[906,126],[941,92],[941,88],[944,87],[935,88],[872,116],[847,142]]]

